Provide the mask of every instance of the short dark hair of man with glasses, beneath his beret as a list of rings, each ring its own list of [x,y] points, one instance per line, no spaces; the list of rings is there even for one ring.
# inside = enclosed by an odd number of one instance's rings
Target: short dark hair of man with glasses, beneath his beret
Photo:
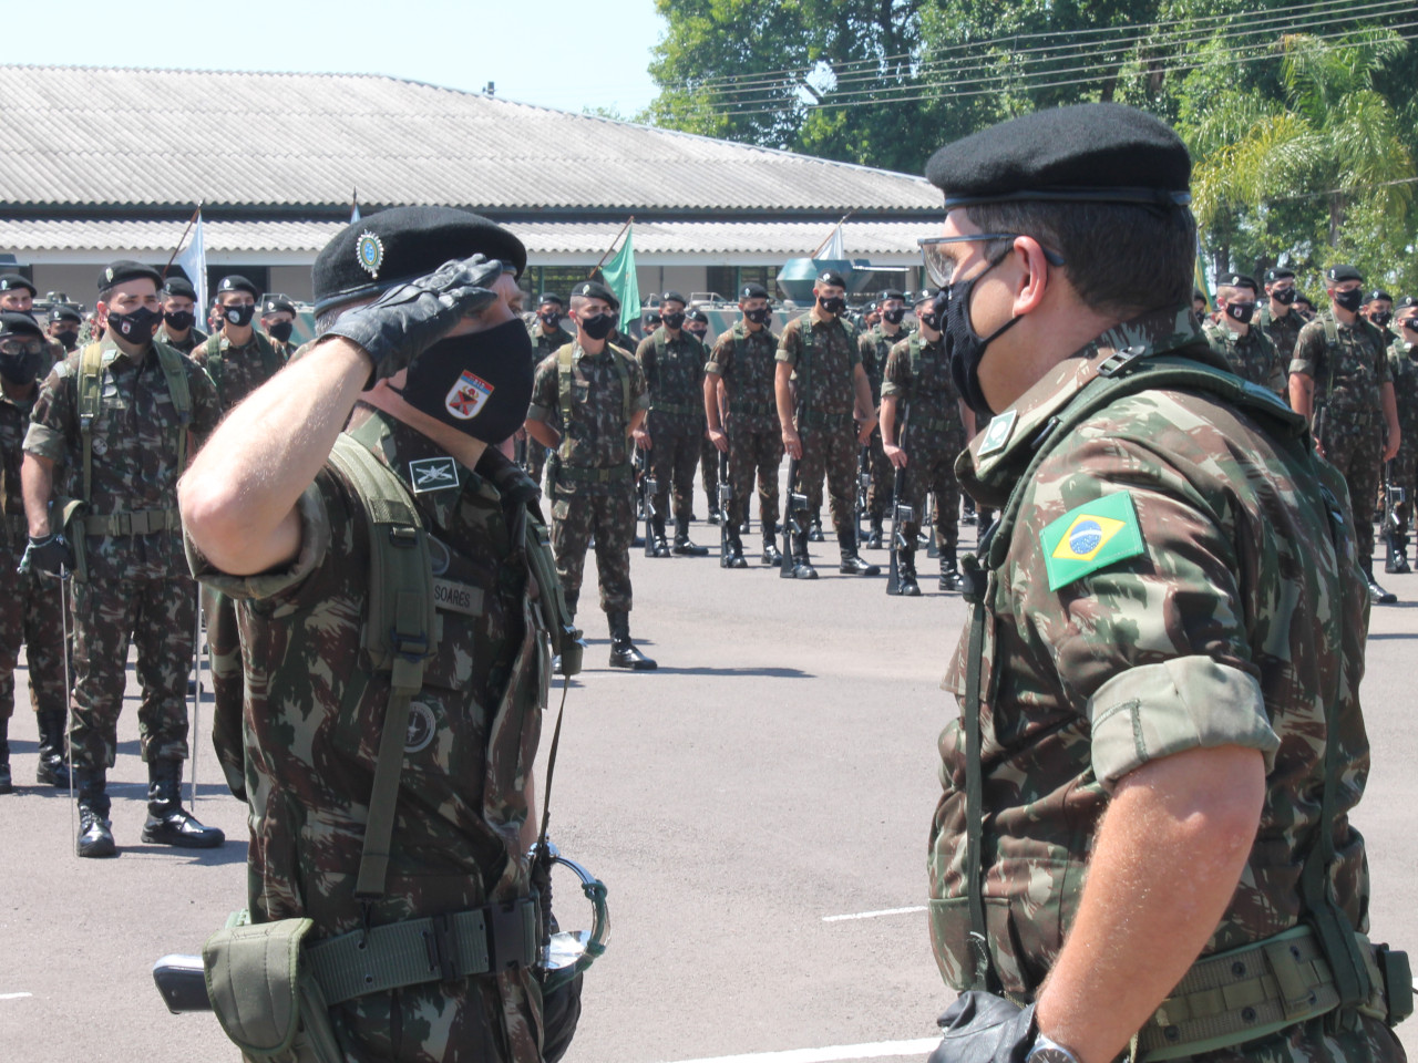
[[[1062,255],[1069,283],[1092,310],[1133,317],[1191,300],[1197,221],[1184,207],[1021,200],[966,210],[986,232],[1022,232]],[[987,254],[1004,245],[997,241]]]

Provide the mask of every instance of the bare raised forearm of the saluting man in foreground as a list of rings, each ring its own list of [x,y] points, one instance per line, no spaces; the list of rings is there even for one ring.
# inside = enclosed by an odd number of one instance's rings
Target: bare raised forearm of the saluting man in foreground
[[[241,403],[193,459],[177,489],[183,524],[217,568],[244,575],[294,557],[295,505],[345,428],[369,369],[349,340],[320,343]]]

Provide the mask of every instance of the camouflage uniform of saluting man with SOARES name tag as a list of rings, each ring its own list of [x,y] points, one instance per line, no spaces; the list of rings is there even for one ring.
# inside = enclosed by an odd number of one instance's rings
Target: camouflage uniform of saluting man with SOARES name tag
[[[411,461],[444,456],[369,407],[356,407],[350,424],[406,485]],[[373,926],[530,890],[519,831],[550,651],[519,536],[537,495],[495,448],[476,469],[457,472],[457,488],[414,496],[432,537],[434,573],[455,592],[435,594],[442,634],[410,712]],[[316,937],[328,937],[362,923],[354,882],[389,673],[372,670],[362,651],[370,544],[357,496],[325,466],[298,510],[301,551],[284,571],[224,575],[196,554],[191,566],[238,602],[252,920],[308,916]],[[537,1063],[539,1012],[533,975],[516,968],[359,996],[330,1016],[356,1060]]]

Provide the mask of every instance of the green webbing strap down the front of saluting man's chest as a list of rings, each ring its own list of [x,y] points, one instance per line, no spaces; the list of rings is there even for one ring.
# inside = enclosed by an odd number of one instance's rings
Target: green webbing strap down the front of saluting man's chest
[[[389,672],[389,704],[354,884],[354,896],[369,903],[384,893],[408,706],[424,685],[424,665],[437,652],[441,632],[428,536],[408,489],[350,435],[335,441],[329,462],[350,482],[364,509],[370,571],[362,643],[374,668]]]

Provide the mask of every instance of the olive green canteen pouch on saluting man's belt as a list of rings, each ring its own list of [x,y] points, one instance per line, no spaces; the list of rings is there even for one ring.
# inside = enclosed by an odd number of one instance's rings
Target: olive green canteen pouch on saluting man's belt
[[[251,1063],[342,1063],[325,994],[302,961],[309,918],[228,926],[201,950],[221,1029]]]

